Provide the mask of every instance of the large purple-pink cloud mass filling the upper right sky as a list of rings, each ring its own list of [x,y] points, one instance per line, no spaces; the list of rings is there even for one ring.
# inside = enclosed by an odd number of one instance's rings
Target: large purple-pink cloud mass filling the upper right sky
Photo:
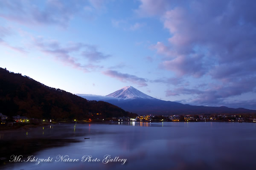
[[[153,46],[164,56],[160,66],[178,76],[207,74],[223,79],[252,75],[256,67],[246,65],[256,63],[256,22],[251,17],[256,15],[255,7],[251,1],[196,0],[166,9],[161,19],[170,32],[169,43]]]

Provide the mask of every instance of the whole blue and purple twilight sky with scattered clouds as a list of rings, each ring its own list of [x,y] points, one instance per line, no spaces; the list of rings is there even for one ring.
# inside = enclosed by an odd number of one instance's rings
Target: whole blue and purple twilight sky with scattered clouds
[[[0,0],[0,67],[74,94],[256,109],[255,0]]]

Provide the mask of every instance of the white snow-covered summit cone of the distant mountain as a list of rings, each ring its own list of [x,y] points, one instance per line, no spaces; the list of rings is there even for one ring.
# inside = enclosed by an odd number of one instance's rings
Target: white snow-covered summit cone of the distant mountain
[[[107,96],[122,98],[122,99],[134,99],[134,98],[142,98],[142,99],[155,99],[154,97],[148,96],[141,91],[138,91],[136,88],[132,86],[125,86],[114,93],[111,93]]]

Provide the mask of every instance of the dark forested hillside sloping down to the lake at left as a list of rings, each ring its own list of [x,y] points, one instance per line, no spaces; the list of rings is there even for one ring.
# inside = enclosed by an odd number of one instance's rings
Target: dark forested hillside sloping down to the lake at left
[[[50,88],[27,76],[0,68],[0,113],[37,119],[87,119],[132,114],[108,102],[87,101],[61,89]]]

